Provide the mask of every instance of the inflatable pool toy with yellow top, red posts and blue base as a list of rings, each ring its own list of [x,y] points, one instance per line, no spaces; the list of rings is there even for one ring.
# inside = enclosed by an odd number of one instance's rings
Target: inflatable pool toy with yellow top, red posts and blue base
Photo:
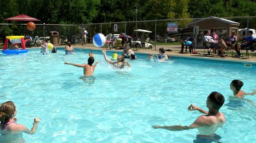
[[[29,40],[29,39],[27,39]],[[27,41],[26,40],[26,41]],[[22,49],[20,50],[10,50],[7,49],[7,45],[8,42],[11,42],[12,44],[17,44],[17,43],[21,43],[21,47]],[[26,45],[25,45],[25,41],[24,41],[24,36],[6,36],[6,40],[4,42],[3,45],[3,50],[2,50],[3,54],[19,54],[19,53],[28,53],[28,50],[26,50]]]

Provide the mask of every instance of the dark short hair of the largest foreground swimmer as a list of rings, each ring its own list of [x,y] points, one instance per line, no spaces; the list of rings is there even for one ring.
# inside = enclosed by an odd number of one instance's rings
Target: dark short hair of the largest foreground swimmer
[[[221,93],[218,92],[212,92],[209,96],[208,96],[209,101],[211,101],[212,103],[212,108],[218,110],[221,108],[221,106],[224,104],[225,102],[225,98]]]

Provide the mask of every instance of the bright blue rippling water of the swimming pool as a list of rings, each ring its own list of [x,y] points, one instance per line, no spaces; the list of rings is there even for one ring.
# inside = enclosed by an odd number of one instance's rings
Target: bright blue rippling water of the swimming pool
[[[83,81],[83,69],[64,62],[87,63],[90,50],[65,55],[0,54],[0,102],[14,101],[18,123],[29,129],[41,122],[35,135],[23,133],[26,143],[192,143],[197,129],[171,132],[152,125],[190,125],[201,115],[212,91],[226,101],[221,112],[226,123],[216,134],[223,143],[255,143],[256,96],[230,101],[230,82],[240,79],[242,90],[256,89],[256,65],[171,57],[168,62],[148,61],[137,54],[131,69],[115,70],[101,51],[93,50],[99,64],[95,79]],[[111,52],[107,51],[111,58]]]

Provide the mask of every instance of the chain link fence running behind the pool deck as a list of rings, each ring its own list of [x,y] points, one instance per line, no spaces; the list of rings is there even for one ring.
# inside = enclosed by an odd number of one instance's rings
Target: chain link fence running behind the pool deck
[[[176,29],[167,28],[168,23],[177,23]],[[145,20],[145,21],[126,21],[126,22],[108,22],[108,23],[89,23],[81,25],[55,25],[55,24],[36,24],[34,31],[29,31],[26,24],[0,24],[0,48],[6,36],[25,35],[31,36],[32,41],[36,36],[39,42],[32,42],[30,46],[38,46],[45,38],[49,38],[50,31],[58,32],[58,45],[67,44],[70,41],[74,45],[82,45],[82,29],[88,31],[87,42],[91,43],[93,35],[102,33],[108,34],[124,33],[131,36],[131,39],[148,38],[148,41],[155,48],[156,45],[177,45],[183,37],[193,37],[196,40],[196,48],[202,47],[204,31],[215,29],[219,39],[227,39],[232,31],[236,33],[239,40],[248,36],[248,31],[252,30],[255,35],[256,17],[207,17],[207,18],[188,18],[171,20]],[[135,29],[144,29],[151,31],[149,34],[140,35],[134,32]],[[36,39],[35,39],[36,40]],[[170,42],[170,43],[168,43]],[[172,43],[174,42],[174,43]],[[176,43],[175,43],[176,42]],[[131,43],[130,43],[131,44]],[[146,47],[147,48],[147,47]]]

